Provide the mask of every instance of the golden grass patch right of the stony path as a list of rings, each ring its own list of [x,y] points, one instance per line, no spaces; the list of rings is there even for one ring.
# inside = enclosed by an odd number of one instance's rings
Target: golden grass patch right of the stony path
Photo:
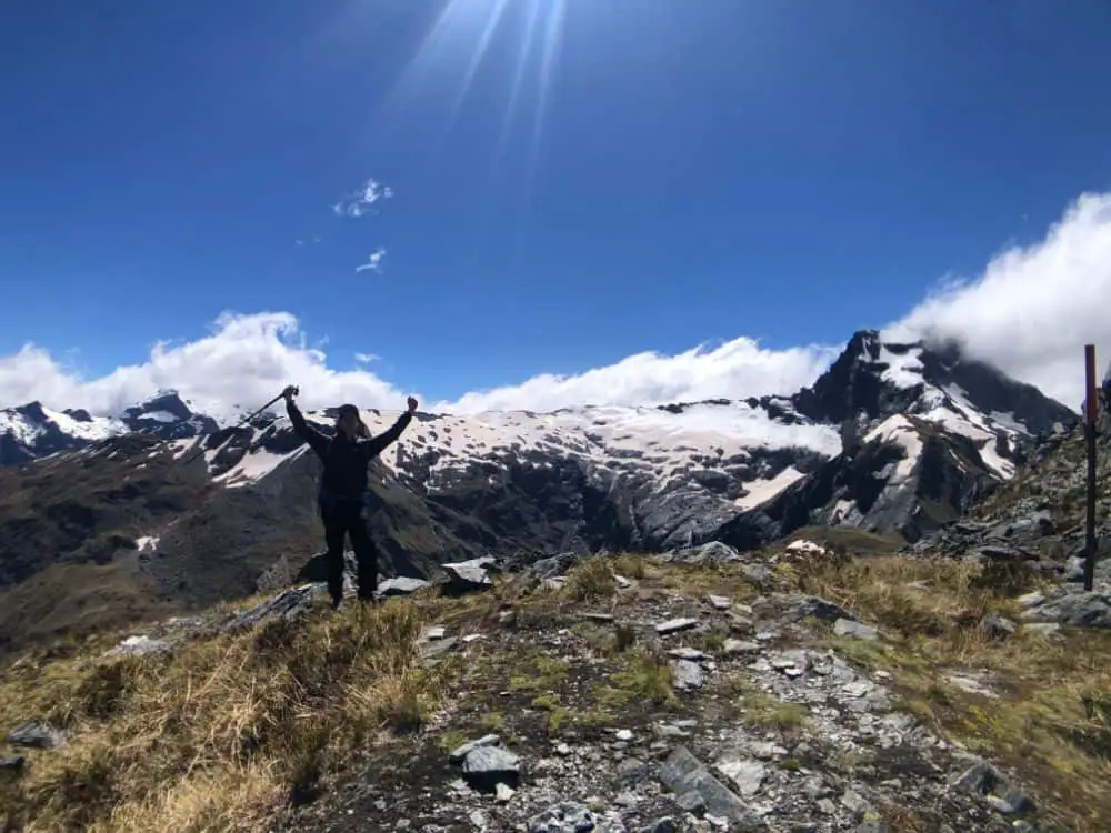
[[[1013,596],[1034,586],[1021,569],[811,558],[778,573],[790,589],[838,602],[885,635],[865,642],[825,634],[820,644],[891,672],[907,709],[1013,767],[1069,830],[1111,829],[1111,634],[1078,631],[1052,641],[1020,629],[992,639],[981,618],[1015,616]],[[951,672],[979,676],[1000,696],[965,692],[947,681]]]

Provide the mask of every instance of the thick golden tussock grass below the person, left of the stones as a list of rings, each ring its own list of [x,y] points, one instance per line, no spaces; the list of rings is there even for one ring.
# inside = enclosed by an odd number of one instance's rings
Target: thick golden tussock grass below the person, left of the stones
[[[36,656],[0,678],[0,725],[44,719],[67,746],[0,785],[27,831],[258,830],[311,800],[369,740],[424,724],[439,694],[418,605],[313,612],[166,658]]]

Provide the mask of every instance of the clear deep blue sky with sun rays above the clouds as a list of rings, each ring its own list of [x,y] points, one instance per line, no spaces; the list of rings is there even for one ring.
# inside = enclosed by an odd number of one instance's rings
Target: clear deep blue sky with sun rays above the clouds
[[[1111,189],[1105,0],[514,0],[480,54],[497,7],[6,4],[0,355],[286,311],[451,399],[834,343]]]

